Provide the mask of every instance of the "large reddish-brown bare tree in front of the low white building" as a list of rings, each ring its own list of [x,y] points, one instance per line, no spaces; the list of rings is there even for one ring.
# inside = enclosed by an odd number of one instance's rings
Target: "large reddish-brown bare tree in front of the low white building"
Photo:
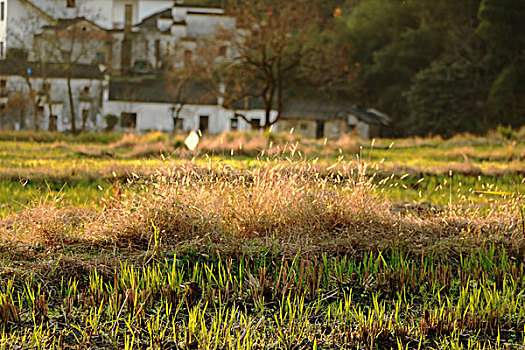
[[[308,0],[231,0],[229,12],[238,30],[222,31],[231,55],[217,61],[212,74],[224,87],[223,106],[235,110],[245,98],[262,100],[264,125],[276,123],[286,89],[294,84],[325,87],[348,79],[349,70],[323,32],[326,19]],[[271,112],[277,115],[271,118]],[[247,120],[242,114],[237,116]]]

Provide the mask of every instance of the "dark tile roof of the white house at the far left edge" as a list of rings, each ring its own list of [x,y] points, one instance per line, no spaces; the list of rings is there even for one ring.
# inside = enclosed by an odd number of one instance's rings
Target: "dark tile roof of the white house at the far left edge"
[[[28,70],[33,77],[65,78],[64,64],[25,62],[20,60],[0,60],[0,75],[24,76]],[[74,79],[104,79],[98,66],[87,64],[71,65],[71,77]]]

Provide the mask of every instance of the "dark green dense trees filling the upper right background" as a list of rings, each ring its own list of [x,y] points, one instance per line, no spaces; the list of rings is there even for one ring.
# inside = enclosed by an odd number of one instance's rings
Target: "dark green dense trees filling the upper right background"
[[[395,134],[525,124],[525,1],[349,0],[343,12],[348,97],[389,113]]]

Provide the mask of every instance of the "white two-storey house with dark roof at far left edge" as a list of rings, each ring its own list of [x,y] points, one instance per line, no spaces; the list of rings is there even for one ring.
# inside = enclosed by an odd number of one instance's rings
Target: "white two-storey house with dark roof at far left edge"
[[[73,65],[71,91],[77,130],[96,130],[106,79],[95,66]],[[33,93],[30,93],[32,91]],[[7,129],[71,129],[66,72],[60,65],[0,61],[0,119]]]

